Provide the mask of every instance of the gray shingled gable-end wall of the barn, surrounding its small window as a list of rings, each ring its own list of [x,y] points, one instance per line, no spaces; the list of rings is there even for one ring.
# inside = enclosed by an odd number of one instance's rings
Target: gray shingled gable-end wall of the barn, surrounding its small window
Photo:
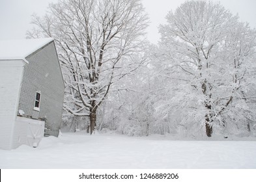
[[[46,118],[46,135],[57,136],[63,112],[64,83],[53,42],[26,57],[18,110],[25,116]],[[41,93],[40,111],[34,110],[36,92]],[[49,131],[48,131],[49,130]]]

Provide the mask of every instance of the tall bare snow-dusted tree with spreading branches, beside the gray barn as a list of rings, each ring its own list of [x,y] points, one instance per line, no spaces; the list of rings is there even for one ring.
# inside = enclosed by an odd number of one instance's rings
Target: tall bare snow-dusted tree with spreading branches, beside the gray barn
[[[55,38],[66,84],[64,110],[89,116],[92,133],[111,85],[145,61],[137,55],[148,23],[141,1],[61,0],[32,23],[30,38]]]

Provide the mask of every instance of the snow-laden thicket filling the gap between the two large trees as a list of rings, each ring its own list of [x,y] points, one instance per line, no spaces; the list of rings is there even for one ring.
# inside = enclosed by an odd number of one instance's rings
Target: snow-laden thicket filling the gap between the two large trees
[[[145,54],[150,57],[152,52],[148,50]],[[100,118],[104,115],[100,129],[116,129],[129,136],[149,135],[156,131],[153,60],[112,86],[107,101],[100,107]]]

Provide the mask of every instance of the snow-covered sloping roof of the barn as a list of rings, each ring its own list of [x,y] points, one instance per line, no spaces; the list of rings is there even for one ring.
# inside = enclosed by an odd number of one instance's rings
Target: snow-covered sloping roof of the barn
[[[53,38],[0,40],[0,60],[23,59],[27,62],[27,56],[51,41]]]

